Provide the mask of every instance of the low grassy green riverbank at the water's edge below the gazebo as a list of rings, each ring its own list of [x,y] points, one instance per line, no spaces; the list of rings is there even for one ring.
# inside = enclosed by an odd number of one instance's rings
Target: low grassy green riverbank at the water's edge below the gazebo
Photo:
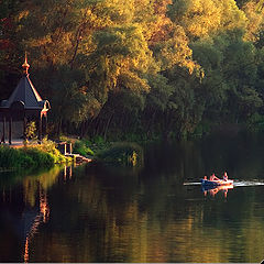
[[[143,162],[143,148],[138,143],[102,140],[91,142],[73,138],[67,138],[67,142],[73,143],[75,154],[63,155],[56,148],[56,143],[48,140],[43,140],[42,144],[0,145],[0,172],[52,168],[55,164],[78,162],[78,154],[82,162],[95,161],[121,166],[139,166]]]

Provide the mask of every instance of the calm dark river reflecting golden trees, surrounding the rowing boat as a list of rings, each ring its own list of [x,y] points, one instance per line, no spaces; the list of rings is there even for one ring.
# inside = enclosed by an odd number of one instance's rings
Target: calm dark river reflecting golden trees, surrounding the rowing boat
[[[202,191],[204,175],[234,179]],[[150,144],[142,167],[0,174],[1,262],[264,258],[264,139]]]

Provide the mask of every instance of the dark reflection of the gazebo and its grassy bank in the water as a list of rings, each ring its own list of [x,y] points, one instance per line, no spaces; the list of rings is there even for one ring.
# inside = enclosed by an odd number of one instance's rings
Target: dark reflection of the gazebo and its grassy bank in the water
[[[30,261],[31,241],[38,232],[40,226],[47,223],[50,218],[47,190],[56,183],[59,170],[61,168],[55,167],[50,172],[29,176],[10,173],[7,178],[1,178],[1,261],[21,262],[21,258],[25,263]],[[9,233],[2,232],[4,228],[8,228]],[[11,244],[4,245],[4,241]],[[12,254],[6,253],[4,249]]]

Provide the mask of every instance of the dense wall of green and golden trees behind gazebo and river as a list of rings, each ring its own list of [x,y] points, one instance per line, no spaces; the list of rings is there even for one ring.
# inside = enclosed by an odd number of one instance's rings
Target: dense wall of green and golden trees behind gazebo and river
[[[125,134],[186,138],[207,122],[250,122],[263,112],[262,3],[3,1],[0,98],[26,50],[56,136],[97,136],[103,147]]]

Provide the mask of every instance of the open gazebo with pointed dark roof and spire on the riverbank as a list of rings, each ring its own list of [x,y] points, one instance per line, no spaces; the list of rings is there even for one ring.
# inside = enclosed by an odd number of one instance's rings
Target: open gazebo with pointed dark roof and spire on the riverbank
[[[47,100],[42,100],[29,77],[28,58],[22,65],[23,77],[8,100],[0,101],[0,140],[9,144],[12,139],[24,139],[26,123],[36,122],[37,139],[41,142],[46,133],[47,111],[51,109]]]

